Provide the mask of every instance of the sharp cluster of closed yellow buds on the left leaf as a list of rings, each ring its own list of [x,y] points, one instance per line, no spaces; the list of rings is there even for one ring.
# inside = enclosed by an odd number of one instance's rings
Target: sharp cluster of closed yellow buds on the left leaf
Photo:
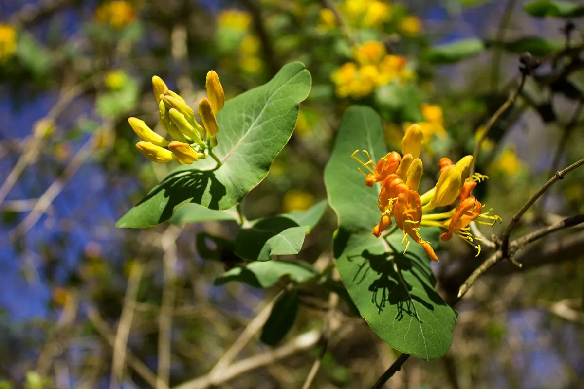
[[[192,164],[205,159],[217,145],[219,125],[215,114],[223,108],[225,94],[217,73],[207,73],[207,97],[199,101],[201,126],[194,117],[194,111],[178,93],[168,89],[158,76],[152,77],[152,89],[158,102],[158,113],[162,128],[172,136],[169,142],[152,131],[143,121],[135,117],[128,118],[140,142],[136,148],[152,162],[167,163],[177,159],[182,164]]]

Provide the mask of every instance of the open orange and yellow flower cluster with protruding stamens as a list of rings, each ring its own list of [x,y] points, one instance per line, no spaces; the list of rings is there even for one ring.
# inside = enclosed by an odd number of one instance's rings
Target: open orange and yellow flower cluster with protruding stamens
[[[488,177],[478,173],[468,177],[472,163],[470,155],[456,164],[444,157],[439,162],[440,177],[436,185],[420,195],[418,188],[423,167],[419,156],[422,143],[422,128],[418,124],[412,124],[402,139],[402,155],[392,151],[374,164],[366,150],[363,152],[367,161],[357,156],[360,150],[353,153],[352,157],[367,170],[366,173],[359,169],[365,176],[365,184],[369,187],[373,187],[375,183],[381,184],[377,202],[381,218],[379,224],[373,227],[372,233],[380,237],[391,226],[393,217],[395,225],[404,232],[404,253],[409,247],[409,236],[424,248],[431,260],[438,261],[430,243],[423,240],[419,233],[420,226],[436,226],[446,230],[440,239],[450,240],[456,234],[477,248],[477,255],[480,254],[481,246],[475,241],[481,239],[471,233],[470,223],[475,220],[477,223],[492,226],[497,220],[502,221],[499,216],[489,215],[491,210],[482,212],[483,205],[471,195],[471,190],[477,183]],[[458,205],[453,206],[457,200]],[[453,208],[446,212],[431,213],[434,209],[445,206]]]

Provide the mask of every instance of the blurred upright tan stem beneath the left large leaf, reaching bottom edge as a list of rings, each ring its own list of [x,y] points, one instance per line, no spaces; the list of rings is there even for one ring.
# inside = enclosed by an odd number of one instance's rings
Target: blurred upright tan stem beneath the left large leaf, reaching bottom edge
[[[171,372],[172,313],[176,296],[176,239],[180,228],[169,226],[162,234],[164,250],[164,289],[158,315],[158,376],[156,387],[168,387]]]

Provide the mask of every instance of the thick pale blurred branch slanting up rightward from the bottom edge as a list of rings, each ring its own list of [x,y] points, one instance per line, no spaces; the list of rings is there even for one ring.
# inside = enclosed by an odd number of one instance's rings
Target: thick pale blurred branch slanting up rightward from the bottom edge
[[[292,339],[286,344],[267,351],[263,354],[254,355],[248,359],[235,362],[223,371],[223,374],[218,377],[218,380],[211,381],[208,374],[194,380],[187,381],[173,389],[206,389],[213,386],[218,386],[226,383],[240,374],[251,372],[251,370],[258,369],[262,366],[270,365],[281,359],[294,355],[297,352],[312,348],[321,338],[321,331],[314,330],[305,332],[304,334]]]

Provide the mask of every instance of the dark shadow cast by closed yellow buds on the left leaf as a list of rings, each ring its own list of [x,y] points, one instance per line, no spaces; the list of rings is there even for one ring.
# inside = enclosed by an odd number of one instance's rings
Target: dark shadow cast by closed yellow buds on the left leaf
[[[201,204],[201,200],[209,184],[208,192],[211,195],[211,199],[206,206],[210,209],[219,209],[219,202],[227,194],[227,189],[223,183],[217,180],[212,170],[174,171],[148,192],[137,205],[148,201],[162,191],[163,196],[168,198],[159,217],[159,222],[164,222],[171,218],[172,214],[176,211],[176,207],[179,205],[185,204],[186,202]]]

